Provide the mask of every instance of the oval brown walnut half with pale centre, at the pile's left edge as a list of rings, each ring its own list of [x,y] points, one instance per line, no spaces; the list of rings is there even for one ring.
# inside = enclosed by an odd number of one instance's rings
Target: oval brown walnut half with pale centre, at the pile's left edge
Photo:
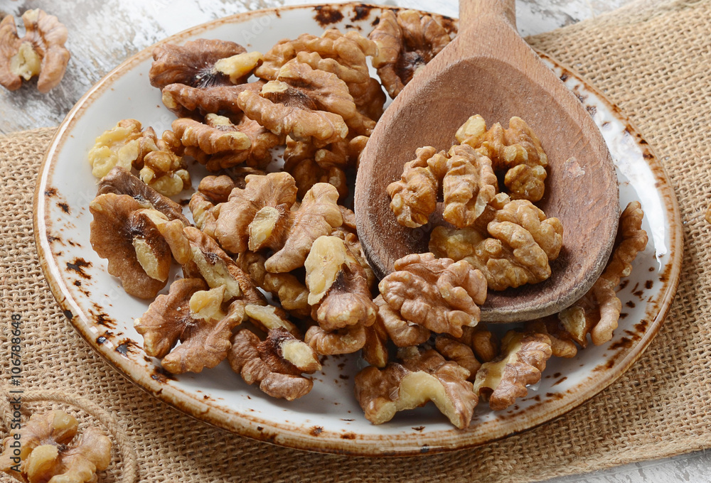
[[[128,195],[97,196],[89,205],[90,241],[127,293],[154,298],[168,281],[171,249],[155,224],[139,215],[144,208]]]

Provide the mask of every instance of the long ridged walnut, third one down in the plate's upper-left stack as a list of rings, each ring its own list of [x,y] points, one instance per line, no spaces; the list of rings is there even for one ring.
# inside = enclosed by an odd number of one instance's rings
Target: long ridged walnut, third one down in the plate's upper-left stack
[[[247,117],[233,124],[228,117],[207,114],[204,122],[176,119],[172,128],[186,146],[186,155],[192,156],[210,171],[242,163],[264,168],[272,161],[271,148],[280,143],[278,136]]]

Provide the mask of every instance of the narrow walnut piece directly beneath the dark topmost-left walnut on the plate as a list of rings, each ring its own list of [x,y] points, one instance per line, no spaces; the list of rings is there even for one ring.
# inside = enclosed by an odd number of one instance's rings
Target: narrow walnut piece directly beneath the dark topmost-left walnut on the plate
[[[197,117],[205,114],[240,114],[237,96],[245,90],[260,92],[264,81],[240,85],[213,85],[190,87],[184,84],[169,84],[161,91],[163,104],[178,117]]]

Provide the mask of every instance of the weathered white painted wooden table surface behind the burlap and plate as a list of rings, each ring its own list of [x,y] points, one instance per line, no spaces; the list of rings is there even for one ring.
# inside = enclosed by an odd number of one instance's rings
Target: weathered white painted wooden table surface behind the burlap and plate
[[[315,0],[314,0],[315,1]],[[611,11],[631,0],[518,0],[522,35]],[[648,0],[652,1],[661,0]],[[16,92],[0,87],[0,134],[56,126],[77,100],[109,70],[137,51],[188,27],[232,13],[270,6],[304,4],[293,0],[0,0],[0,18],[43,9],[69,29],[72,53],[59,87],[40,94],[32,85]],[[308,2],[312,3],[312,2]],[[456,16],[455,0],[385,0],[380,3]],[[563,477],[549,483],[711,483],[711,453],[697,452],[612,470]]]

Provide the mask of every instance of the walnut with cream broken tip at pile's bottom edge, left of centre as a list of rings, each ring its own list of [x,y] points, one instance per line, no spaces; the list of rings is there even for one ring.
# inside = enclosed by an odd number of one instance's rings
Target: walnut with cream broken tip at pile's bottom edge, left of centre
[[[247,384],[259,383],[264,393],[287,401],[309,394],[314,386],[314,381],[301,374],[321,370],[314,349],[278,328],[269,330],[264,341],[249,330],[240,330],[232,337],[228,360]]]

